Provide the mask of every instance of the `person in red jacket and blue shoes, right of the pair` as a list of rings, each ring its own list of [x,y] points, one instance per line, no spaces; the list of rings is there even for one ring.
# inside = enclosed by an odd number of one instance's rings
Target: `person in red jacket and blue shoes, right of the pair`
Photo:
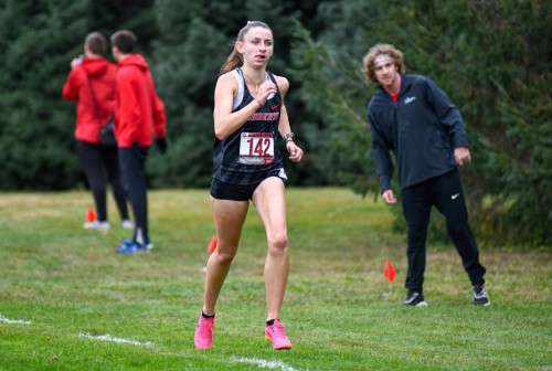
[[[146,160],[156,139],[161,155],[167,151],[164,105],[156,93],[148,63],[136,53],[138,39],[131,31],[115,32],[112,53],[118,63],[115,84],[115,132],[119,148],[123,184],[135,215],[131,240],[123,242],[119,254],[148,252],[153,247],[148,231]]]

